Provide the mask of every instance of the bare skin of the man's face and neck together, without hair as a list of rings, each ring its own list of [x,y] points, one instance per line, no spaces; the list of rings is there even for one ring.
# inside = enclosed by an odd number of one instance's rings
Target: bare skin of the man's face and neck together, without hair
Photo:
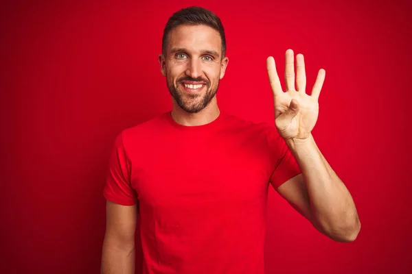
[[[216,92],[229,58],[222,56],[219,32],[206,25],[180,25],[168,36],[166,51],[159,55],[161,73],[172,95],[172,117],[182,125],[205,125],[219,114]],[[182,83],[205,83],[191,94]]]

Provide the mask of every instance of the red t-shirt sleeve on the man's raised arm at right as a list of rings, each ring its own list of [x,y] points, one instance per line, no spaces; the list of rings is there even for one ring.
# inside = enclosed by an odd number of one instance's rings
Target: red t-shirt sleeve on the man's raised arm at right
[[[292,151],[290,151],[285,140],[279,135],[275,127],[268,127],[266,130],[266,140],[273,163],[273,173],[270,182],[276,189],[288,179],[301,173],[301,169]]]

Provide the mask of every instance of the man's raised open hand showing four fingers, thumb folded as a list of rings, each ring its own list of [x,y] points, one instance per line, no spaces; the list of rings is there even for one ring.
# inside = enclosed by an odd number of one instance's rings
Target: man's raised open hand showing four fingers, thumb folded
[[[276,72],[275,60],[273,57],[269,57],[266,63],[275,103],[275,125],[284,139],[308,138],[317,122],[319,93],[325,79],[325,71],[321,69],[312,88],[312,94],[308,95],[305,91],[306,75],[303,55],[297,55],[296,65],[297,88],[295,88],[293,51],[286,51],[285,79],[287,91],[284,92]],[[298,108],[290,108],[292,105],[297,105]]]

